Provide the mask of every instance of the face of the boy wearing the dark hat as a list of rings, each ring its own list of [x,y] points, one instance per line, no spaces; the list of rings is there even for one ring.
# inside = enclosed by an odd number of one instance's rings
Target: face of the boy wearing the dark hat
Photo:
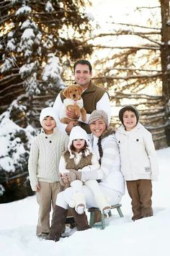
[[[122,121],[127,131],[130,131],[136,126],[137,118],[133,111],[127,110],[122,115]]]

